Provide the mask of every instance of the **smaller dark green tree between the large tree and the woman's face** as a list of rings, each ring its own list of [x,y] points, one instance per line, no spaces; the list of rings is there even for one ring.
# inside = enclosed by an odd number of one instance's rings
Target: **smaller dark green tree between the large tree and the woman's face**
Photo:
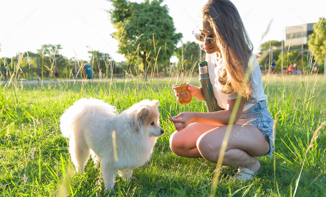
[[[176,49],[175,56],[179,59],[179,65],[181,65],[182,51],[184,55],[184,67],[192,69],[194,63],[199,62],[199,53],[201,50],[197,43],[187,41],[183,46]],[[205,52],[202,52],[202,59],[205,59]]]

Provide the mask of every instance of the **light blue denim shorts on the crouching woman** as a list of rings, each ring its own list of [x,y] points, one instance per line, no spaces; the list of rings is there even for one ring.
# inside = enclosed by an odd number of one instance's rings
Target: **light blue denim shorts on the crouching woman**
[[[247,123],[251,121],[250,123]],[[273,125],[274,119],[271,116],[271,113],[267,109],[266,100],[258,101],[257,104],[249,108],[248,110],[242,112],[240,119],[236,124],[245,124],[256,126],[261,133],[265,136],[266,140],[269,142],[270,150],[265,154],[269,157],[273,155]]]

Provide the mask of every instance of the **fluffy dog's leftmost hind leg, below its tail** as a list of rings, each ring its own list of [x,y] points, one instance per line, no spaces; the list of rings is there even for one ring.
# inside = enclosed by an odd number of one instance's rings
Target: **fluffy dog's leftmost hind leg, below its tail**
[[[69,152],[76,171],[84,174],[85,164],[90,155],[90,149],[83,138],[70,137]]]

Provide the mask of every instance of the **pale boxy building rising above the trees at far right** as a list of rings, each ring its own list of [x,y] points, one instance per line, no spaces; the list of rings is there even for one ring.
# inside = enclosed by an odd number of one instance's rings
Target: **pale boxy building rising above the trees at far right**
[[[290,27],[285,27],[285,46],[289,46],[291,41],[291,46],[301,46],[307,45],[309,40],[309,35],[314,31],[313,29],[314,23],[307,23],[302,25],[295,25]],[[293,33],[292,39],[291,35]]]

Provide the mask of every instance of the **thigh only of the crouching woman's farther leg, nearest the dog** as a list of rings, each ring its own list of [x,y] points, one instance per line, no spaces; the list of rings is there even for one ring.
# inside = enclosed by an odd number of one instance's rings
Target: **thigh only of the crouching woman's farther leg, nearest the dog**
[[[191,123],[181,131],[175,131],[170,136],[170,146],[178,149],[196,148],[197,139],[205,132],[214,129],[216,125],[206,125],[202,123]]]

